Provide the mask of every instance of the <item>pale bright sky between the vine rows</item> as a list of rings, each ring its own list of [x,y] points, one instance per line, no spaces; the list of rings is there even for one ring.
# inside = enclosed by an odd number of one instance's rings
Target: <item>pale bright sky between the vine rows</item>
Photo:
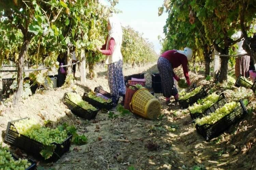
[[[158,7],[162,4],[163,0],[119,0],[115,6],[116,9],[122,11],[122,13],[117,14],[122,26],[129,25],[142,34],[143,38],[151,41],[157,54],[160,53],[161,49],[158,35],[164,37],[163,26],[168,17],[165,12],[158,16]]]

